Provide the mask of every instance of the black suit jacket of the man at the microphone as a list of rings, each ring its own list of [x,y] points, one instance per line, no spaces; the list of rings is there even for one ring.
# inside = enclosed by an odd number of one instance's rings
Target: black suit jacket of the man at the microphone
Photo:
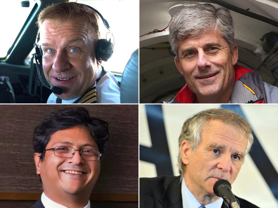
[[[181,185],[180,176],[140,178],[140,208],[182,208]],[[244,199],[238,200],[240,207],[259,208]],[[221,208],[228,207],[223,202]]]

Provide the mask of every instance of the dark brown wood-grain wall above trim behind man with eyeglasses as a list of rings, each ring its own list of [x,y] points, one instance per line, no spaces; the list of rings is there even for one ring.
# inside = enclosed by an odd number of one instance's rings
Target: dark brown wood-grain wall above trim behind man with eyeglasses
[[[138,194],[138,105],[0,105],[0,192],[42,192],[33,160],[34,128],[50,112],[77,106],[109,123],[92,195]]]

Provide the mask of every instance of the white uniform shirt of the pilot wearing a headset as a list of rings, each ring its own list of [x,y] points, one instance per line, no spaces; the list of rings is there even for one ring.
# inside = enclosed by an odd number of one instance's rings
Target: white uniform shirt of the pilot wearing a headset
[[[110,71],[107,72],[98,83],[95,83],[95,86],[97,103],[120,103],[120,87],[118,86],[116,77]],[[73,100],[62,100],[62,103],[74,103],[78,98]],[[47,103],[56,103],[56,99],[57,96],[52,92],[47,99]]]

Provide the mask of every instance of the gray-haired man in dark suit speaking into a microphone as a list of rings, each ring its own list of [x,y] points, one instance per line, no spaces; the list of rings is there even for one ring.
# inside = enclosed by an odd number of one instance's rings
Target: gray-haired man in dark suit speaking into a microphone
[[[140,208],[225,208],[213,192],[219,179],[235,181],[253,144],[248,122],[226,109],[187,119],[179,138],[178,177],[140,178]],[[238,198],[242,207],[256,205]]]

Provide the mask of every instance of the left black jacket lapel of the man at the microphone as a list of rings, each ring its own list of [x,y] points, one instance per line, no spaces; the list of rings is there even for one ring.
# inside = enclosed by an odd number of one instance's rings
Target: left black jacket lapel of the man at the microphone
[[[180,176],[170,181],[167,189],[159,198],[164,208],[182,208],[181,186]]]

